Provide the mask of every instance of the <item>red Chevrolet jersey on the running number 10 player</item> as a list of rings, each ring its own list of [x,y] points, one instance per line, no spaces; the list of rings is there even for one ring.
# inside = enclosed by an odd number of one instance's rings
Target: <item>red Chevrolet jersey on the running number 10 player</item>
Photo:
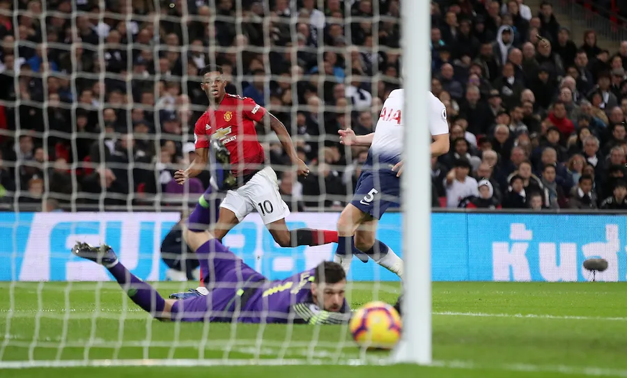
[[[209,148],[210,139],[214,136],[231,152],[233,175],[258,171],[265,162],[265,156],[257,139],[255,122],[261,121],[265,112],[261,105],[249,97],[226,93],[217,110],[208,107],[196,121],[196,148]]]

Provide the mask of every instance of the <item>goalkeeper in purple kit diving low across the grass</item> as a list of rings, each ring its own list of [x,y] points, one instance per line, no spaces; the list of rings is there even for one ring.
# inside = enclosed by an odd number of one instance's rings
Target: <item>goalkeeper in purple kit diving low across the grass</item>
[[[159,320],[295,324],[350,320],[341,265],[325,261],[285,280],[268,281],[210,233],[195,233],[194,239],[190,247],[196,250],[207,292],[187,299],[161,297],[128,271],[110,246],[77,243],[72,253],[107,268],[130,299]]]

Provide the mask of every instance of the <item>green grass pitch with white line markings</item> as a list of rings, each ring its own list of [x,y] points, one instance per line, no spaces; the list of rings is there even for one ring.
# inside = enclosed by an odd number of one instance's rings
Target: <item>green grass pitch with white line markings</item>
[[[164,295],[188,283],[157,283]],[[353,283],[353,307],[394,303],[392,283]],[[142,360],[140,367],[0,370],[0,377],[627,377],[627,284],[433,283],[433,366],[376,365],[346,326],[153,321],[115,283],[0,283],[0,364]],[[240,361],[162,367],[153,359]],[[277,360],[282,359],[282,360]],[[315,365],[288,365],[309,359]],[[284,366],[255,365],[283,361]],[[333,365],[341,363],[343,365]]]

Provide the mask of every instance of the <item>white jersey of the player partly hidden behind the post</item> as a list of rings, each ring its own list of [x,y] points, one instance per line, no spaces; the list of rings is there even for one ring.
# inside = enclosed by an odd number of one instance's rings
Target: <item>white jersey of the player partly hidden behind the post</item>
[[[449,124],[446,107],[433,93],[428,92],[427,96],[429,101],[428,123],[431,136],[448,134]],[[383,103],[369,153],[369,158],[375,159],[379,164],[396,164],[401,160],[403,139],[405,139],[402,116],[404,100],[405,90],[401,88],[392,90]]]

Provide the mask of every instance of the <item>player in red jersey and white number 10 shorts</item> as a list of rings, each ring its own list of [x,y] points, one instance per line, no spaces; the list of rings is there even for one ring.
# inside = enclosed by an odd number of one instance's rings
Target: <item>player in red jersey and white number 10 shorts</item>
[[[231,174],[237,184],[226,193],[220,204],[217,224],[212,235],[222,240],[226,233],[253,211],[258,212],[268,227],[274,241],[280,246],[316,246],[337,242],[337,232],[300,228],[288,230],[285,218],[290,214],[287,204],[279,194],[277,173],[265,165],[263,147],[257,139],[255,123],[270,125],[279,137],[283,148],[298,175],[309,175],[309,168],[297,157],[287,129],[276,117],[248,97],[226,93],[226,80],[222,68],[208,65],[201,71],[201,88],[209,97],[210,105],[196,122],[196,159],[185,171],[177,171],[174,179],[179,184],[199,175],[208,163],[212,139],[219,140],[229,150]],[[206,231],[210,221],[210,201],[202,196],[196,209],[189,215],[185,240],[194,244],[194,234]],[[190,245],[192,249],[197,246]]]

